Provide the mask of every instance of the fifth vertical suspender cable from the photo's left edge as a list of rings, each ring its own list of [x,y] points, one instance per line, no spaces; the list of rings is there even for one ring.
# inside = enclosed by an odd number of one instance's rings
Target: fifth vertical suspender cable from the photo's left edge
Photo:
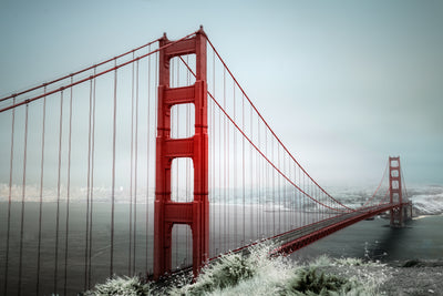
[[[73,76],[71,76],[72,83]],[[69,118],[69,135],[68,135],[68,184],[66,184],[66,225],[64,236],[64,285],[63,294],[66,295],[68,284],[68,241],[69,241],[69,218],[70,218],[70,195],[71,195],[71,139],[72,139],[72,88],[70,95],[70,118]]]

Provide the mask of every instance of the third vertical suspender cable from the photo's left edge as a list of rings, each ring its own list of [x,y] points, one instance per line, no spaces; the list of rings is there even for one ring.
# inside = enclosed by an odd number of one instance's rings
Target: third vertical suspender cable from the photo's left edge
[[[43,88],[47,92],[47,86]],[[35,294],[40,294],[40,255],[41,255],[41,227],[42,227],[42,211],[43,211],[43,169],[44,169],[44,132],[47,121],[47,96],[43,98],[43,122],[42,122],[42,150],[40,159],[40,195],[39,195],[39,243],[37,247],[37,284]]]

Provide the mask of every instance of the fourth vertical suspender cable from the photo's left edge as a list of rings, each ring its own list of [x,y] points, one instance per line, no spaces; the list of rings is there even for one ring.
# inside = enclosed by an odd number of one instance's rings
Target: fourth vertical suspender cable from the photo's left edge
[[[56,180],[56,218],[55,218],[55,266],[54,266],[54,293],[58,290],[59,277],[59,228],[60,228],[60,191],[62,166],[62,135],[63,135],[63,90],[60,92],[60,126],[59,126],[59,171]]]

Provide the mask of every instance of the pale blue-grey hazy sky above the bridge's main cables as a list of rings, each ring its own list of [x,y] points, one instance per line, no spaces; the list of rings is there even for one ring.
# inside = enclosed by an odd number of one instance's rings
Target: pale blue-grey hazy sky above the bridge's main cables
[[[443,1],[2,0],[0,95],[199,24],[320,184],[443,184]]]

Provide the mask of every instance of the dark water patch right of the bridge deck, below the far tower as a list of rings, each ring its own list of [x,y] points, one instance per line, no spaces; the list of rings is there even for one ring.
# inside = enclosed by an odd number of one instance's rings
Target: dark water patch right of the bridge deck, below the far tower
[[[396,264],[413,258],[443,258],[443,215],[415,217],[404,228],[391,228],[377,217],[331,234],[291,255],[295,261],[311,261],[319,255],[333,258],[362,258]]]

